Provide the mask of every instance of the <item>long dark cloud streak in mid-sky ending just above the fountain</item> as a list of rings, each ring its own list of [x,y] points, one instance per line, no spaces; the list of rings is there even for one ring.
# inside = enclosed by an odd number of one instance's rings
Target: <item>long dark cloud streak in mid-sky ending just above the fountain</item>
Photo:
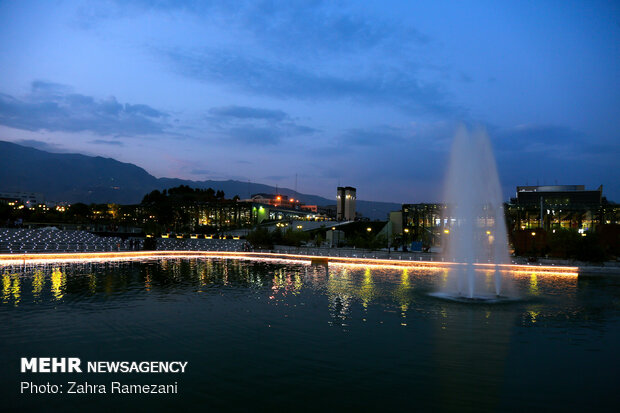
[[[388,104],[407,112],[454,114],[437,84],[425,83],[413,71],[381,67],[366,75],[347,76],[308,70],[305,66],[253,58],[225,51],[165,52],[185,76],[229,84],[258,95],[284,99],[348,99]]]

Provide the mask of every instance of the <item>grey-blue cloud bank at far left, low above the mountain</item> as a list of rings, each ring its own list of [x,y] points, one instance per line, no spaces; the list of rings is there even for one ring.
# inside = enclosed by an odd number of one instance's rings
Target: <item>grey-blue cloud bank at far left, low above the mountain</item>
[[[161,134],[167,116],[147,105],[122,104],[115,97],[96,99],[43,81],[33,82],[30,94],[21,99],[0,93],[0,124],[28,131]]]

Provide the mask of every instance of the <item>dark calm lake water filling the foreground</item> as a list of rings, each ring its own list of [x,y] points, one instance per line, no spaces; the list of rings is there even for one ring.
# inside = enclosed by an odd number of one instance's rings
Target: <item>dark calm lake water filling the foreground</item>
[[[522,300],[427,294],[443,271],[165,259],[5,267],[0,408],[612,411],[620,278],[518,276]],[[172,374],[21,374],[20,357],[188,361]],[[178,382],[30,395],[21,381]]]

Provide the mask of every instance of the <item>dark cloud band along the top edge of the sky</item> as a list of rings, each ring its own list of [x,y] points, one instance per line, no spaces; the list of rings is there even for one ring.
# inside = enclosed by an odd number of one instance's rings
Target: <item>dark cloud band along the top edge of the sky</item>
[[[372,48],[404,50],[430,39],[411,26],[364,13],[338,2],[321,0],[263,1],[116,1],[116,7],[81,7],[78,25],[93,28],[98,21],[161,12],[186,13],[205,24],[225,22],[228,32],[287,55],[358,52]],[[403,42],[402,39],[407,39]]]

